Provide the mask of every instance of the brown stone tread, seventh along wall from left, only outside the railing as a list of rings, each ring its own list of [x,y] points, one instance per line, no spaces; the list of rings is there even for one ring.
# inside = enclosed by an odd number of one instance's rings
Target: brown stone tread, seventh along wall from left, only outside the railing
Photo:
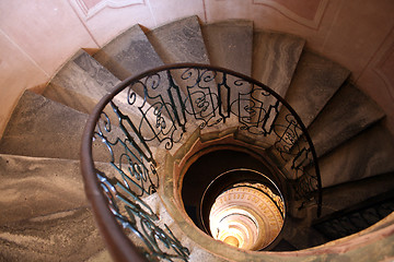
[[[350,71],[312,51],[303,50],[286,100],[308,128],[349,76]],[[279,119],[289,111],[282,108]],[[277,120],[280,121],[280,120]]]

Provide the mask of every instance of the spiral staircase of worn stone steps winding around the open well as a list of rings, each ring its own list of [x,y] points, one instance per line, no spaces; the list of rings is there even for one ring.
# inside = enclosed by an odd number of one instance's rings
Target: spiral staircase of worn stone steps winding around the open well
[[[343,257],[351,261],[379,261],[393,258],[394,251],[390,248],[393,234],[380,238],[375,246],[368,242],[368,234],[391,228],[392,215],[379,217],[381,222],[358,235],[328,242],[357,233],[349,230],[337,237],[335,231],[326,234],[333,223],[337,231],[346,226],[355,227],[355,223],[349,225],[349,218],[345,225],[346,215],[349,217],[368,209],[375,212],[379,206],[384,206],[385,215],[393,211],[394,139],[382,124],[383,111],[351,83],[350,72],[308,50],[304,45],[303,39],[293,35],[255,31],[250,21],[202,25],[197,16],[192,16],[153,31],[135,25],[93,56],[78,51],[49,81],[43,94],[26,91],[22,95],[1,138],[0,261],[112,260],[95,219],[101,228],[104,222],[93,217],[79,168],[81,138],[89,115],[121,81],[154,68],[165,69],[165,64],[189,62],[222,67],[251,76],[286,99],[285,104],[296,110],[313,142],[323,202],[318,202],[318,196],[317,201],[293,201],[290,219],[271,252],[240,250],[198,231],[192,219],[184,218],[186,212],[178,210],[182,201],[172,199],[176,196],[171,193],[176,191],[171,177],[176,172],[173,163],[182,164],[185,157],[205,148],[205,143],[220,147],[228,145],[228,141],[266,152],[268,162],[280,167],[285,176],[291,169],[288,163],[292,159],[283,162],[280,154],[271,150],[276,139],[269,132],[256,139],[245,133],[233,118],[217,127],[201,126],[196,120],[185,126],[182,138],[173,146],[163,146],[159,138],[149,142],[158,180],[162,182],[154,190],[143,189],[147,194],[138,201],[160,217],[158,227],[171,229],[171,234],[164,229],[163,234],[166,231],[166,237],[173,240],[167,247],[173,254],[155,257],[158,252],[153,252],[148,258],[174,261],[339,261]],[[182,75],[174,79],[179,82]],[[134,97],[143,97],[143,91],[137,93]],[[127,96],[129,94],[124,97]],[[121,105],[123,102],[115,103]],[[283,105],[277,107],[280,112],[267,121],[285,121],[291,109]],[[105,112],[109,117],[113,114],[107,107]],[[163,118],[171,118],[171,114]],[[99,121],[105,127],[105,119]],[[308,133],[297,135],[305,138]],[[102,148],[97,145],[97,136],[95,139],[93,146]],[[294,143],[303,147],[308,140],[299,139]],[[105,154],[99,152],[94,160],[95,168],[103,174],[112,172],[113,166]],[[318,172],[318,168],[316,170]],[[99,178],[96,184],[107,182],[104,175]],[[90,186],[85,188],[89,190]],[[93,191],[88,193],[90,200],[94,199],[92,194]],[[366,207],[364,203],[369,205]],[[321,212],[316,212],[318,210]],[[318,219],[317,213],[322,213]],[[361,226],[360,230],[367,226]],[[130,236],[134,242],[139,241],[136,236]],[[111,247],[111,237],[106,239],[114,258],[121,259],[114,254],[116,248]],[[344,248],[346,241],[351,240],[359,245],[355,248],[357,252]],[[336,249],[336,243],[344,246]],[[318,245],[324,246],[312,248]]]

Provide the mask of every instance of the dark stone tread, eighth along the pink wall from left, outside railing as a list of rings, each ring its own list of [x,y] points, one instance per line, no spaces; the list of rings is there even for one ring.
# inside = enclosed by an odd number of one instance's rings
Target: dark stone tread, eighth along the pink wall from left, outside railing
[[[333,96],[308,131],[317,156],[322,156],[383,117],[384,112],[370,97],[347,84]]]

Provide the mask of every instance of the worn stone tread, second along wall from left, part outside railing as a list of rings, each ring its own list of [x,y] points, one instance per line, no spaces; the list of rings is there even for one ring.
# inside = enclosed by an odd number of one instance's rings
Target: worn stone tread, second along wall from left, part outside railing
[[[90,114],[119,80],[83,50],[79,50],[44,90],[43,95]]]

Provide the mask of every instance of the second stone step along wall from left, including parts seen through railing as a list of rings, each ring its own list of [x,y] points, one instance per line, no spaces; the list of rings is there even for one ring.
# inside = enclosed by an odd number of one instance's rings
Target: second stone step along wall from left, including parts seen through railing
[[[118,83],[120,81],[106,68],[86,52],[80,50],[50,81],[43,95],[81,112],[91,114],[103,96],[112,92]],[[129,97],[130,94],[126,88],[116,95],[113,100],[123,108],[125,114],[130,115],[130,119],[138,126],[142,119],[138,106],[143,105],[143,110],[151,105],[138,94],[132,99],[129,99]],[[130,104],[134,105],[130,106]],[[150,111],[153,111],[153,109]],[[108,116],[114,115],[109,107],[105,109],[105,112]],[[150,115],[153,114],[147,114],[147,116],[152,117]]]

